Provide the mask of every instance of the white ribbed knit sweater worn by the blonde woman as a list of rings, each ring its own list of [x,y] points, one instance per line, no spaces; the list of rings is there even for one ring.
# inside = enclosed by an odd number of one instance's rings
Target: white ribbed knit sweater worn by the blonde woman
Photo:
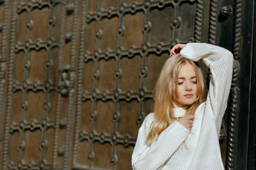
[[[133,169],[224,169],[218,136],[230,92],[233,54],[215,45],[188,43],[181,55],[193,61],[202,58],[210,67],[212,78],[207,99],[194,113],[191,132],[175,121],[150,147],[146,146],[145,140],[154,113],[147,115],[139,128],[132,154]],[[184,141],[186,145],[183,145]]]

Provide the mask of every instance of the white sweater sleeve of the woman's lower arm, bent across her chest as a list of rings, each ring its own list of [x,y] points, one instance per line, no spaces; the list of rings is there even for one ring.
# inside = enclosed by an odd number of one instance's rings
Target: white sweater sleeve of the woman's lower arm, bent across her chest
[[[147,147],[146,137],[149,133],[153,116],[153,113],[146,116],[141,128],[139,128],[137,142],[132,153],[132,168],[134,170],[160,169],[189,135],[189,130],[184,128],[178,121],[175,121],[161,132],[156,142]]]

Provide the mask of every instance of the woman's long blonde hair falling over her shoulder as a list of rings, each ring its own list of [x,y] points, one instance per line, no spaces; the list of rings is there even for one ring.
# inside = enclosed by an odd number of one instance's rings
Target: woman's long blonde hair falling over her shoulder
[[[194,103],[186,106],[186,115],[195,113],[196,108],[204,101],[204,80],[201,69],[193,61],[180,54],[166,60],[154,89],[154,120],[151,123],[149,135],[146,137],[148,147],[174,122],[173,108],[176,101],[178,72],[186,63],[193,66],[197,78],[197,98]]]

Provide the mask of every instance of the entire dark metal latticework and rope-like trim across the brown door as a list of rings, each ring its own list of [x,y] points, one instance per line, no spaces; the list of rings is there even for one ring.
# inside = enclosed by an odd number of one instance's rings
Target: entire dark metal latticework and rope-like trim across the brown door
[[[95,145],[99,143],[100,145],[109,145],[110,146],[110,155],[109,155],[109,165],[110,169],[117,169],[119,164],[119,154],[118,148],[124,147],[125,149],[130,149],[134,147],[136,142],[136,136],[131,134],[120,134],[118,131],[118,127],[121,125],[121,121],[124,120],[124,115],[122,115],[120,111],[122,101],[127,103],[132,103],[136,101],[137,103],[137,128],[142,125],[144,117],[146,116],[146,100],[152,99],[152,91],[146,89],[146,79],[150,74],[150,55],[155,55],[159,57],[161,55],[166,54],[166,58],[168,57],[168,52],[170,46],[175,45],[178,42],[201,42],[202,40],[202,30],[203,30],[203,5],[204,2],[202,0],[166,0],[166,1],[151,1],[146,0],[142,3],[133,2],[132,4],[126,4],[124,1],[121,1],[120,4],[116,7],[103,8],[104,1],[97,1],[97,9],[94,12],[88,10],[89,1],[80,1],[75,0],[74,4],[68,4],[68,0],[65,1],[28,1],[27,3],[18,3],[18,1],[14,0],[12,3],[12,16],[11,16],[11,41],[10,41],[10,55],[9,55],[9,74],[8,74],[8,94],[7,94],[7,107],[6,107],[6,120],[5,120],[5,131],[4,131],[4,161],[3,161],[3,169],[70,169],[70,144],[73,144],[73,161],[72,161],[72,169],[100,169],[97,165],[94,164],[95,159],[99,157],[95,154]],[[0,1],[1,4],[1,1]],[[82,6],[80,6],[82,4]],[[236,1],[236,4],[240,4],[240,1]],[[54,10],[55,6],[62,6],[62,13],[58,19],[58,15],[55,15]],[[181,34],[181,29],[183,29],[183,23],[186,22],[186,18],[182,16],[181,6],[186,5],[193,6],[195,10],[195,16],[193,16],[194,23],[189,23],[194,28],[191,31],[188,31],[187,34],[183,33],[183,36],[179,36]],[[6,55],[5,55],[5,41],[6,41],[6,30],[7,30],[7,14],[9,9],[9,1],[4,1],[4,22],[2,30],[2,45],[1,45],[1,72],[0,77],[4,79],[4,75],[6,72],[5,63],[6,63]],[[217,1],[210,1],[210,25],[209,25],[209,35],[208,39],[210,43],[215,44],[215,29],[216,29],[216,9]],[[33,21],[33,11],[34,10],[44,10],[48,9],[48,22],[46,26],[48,26],[48,35],[46,35],[46,40],[36,39],[33,40],[31,38],[31,33],[36,28],[36,22]],[[156,42],[151,42],[154,30],[157,29],[157,26],[154,25],[154,21],[151,20],[151,13],[154,11],[164,11],[168,9],[171,11],[172,15],[171,21],[169,24],[169,39],[161,41],[155,40]],[[58,10],[58,9],[57,9]],[[81,11],[81,13],[80,13]],[[239,59],[239,40],[240,40],[240,6],[236,6],[235,8],[235,28],[234,28],[234,57],[235,60]],[[26,40],[24,42],[18,42],[16,40],[16,24],[17,17],[26,13],[26,24],[24,25],[26,28]],[[125,39],[129,28],[125,26],[125,21],[127,16],[134,16],[141,13],[143,15],[142,19],[142,42],[140,45],[129,45],[128,47],[124,47],[122,45],[122,41]],[[225,12],[224,12],[225,13]],[[73,17],[73,26],[72,30],[67,30],[67,18],[68,16]],[[82,23],[78,22],[79,17],[81,18]],[[106,30],[102,28],[103,21],[112,20],[113,18],[117,18],[117,31],[114,34],[117,37],[117,45],[110,49],[102,49],[100,47],[101,42],[105,38]],[[192,22],[192,21],[191,21]],[[61,23],[61,24],[59,24]],[[87,40],[87,30],[86,28],[90,26],[91,23],[95,23],[95,50],[86,50]],[[60,38],[55,38],[53,36],[53,29],[60,25]],[[80,25],[80,27],[78,27]],[[0,26],[1,28],[1,26]],[[80,40],[79,40],[79,54],[77,54],[76,50],[78,50],[77,44],[77,36],[78,29],[80,28]],[[67,31],[67,32],[66,32]],[[184,31],[185,32],[185,31]],[[191,33],[191,34],[189,34]],[[207,36],[207,35],[206,35]],[[54,38],[53,38],[54,37]],[[157,39],[157,38],[156,38]],[[65,53],[65,47],[70,47],[70,54]],[[58,62],[50,58],[53,49],[58,49]],[[29,74],[32,72],[33,61],[31,61],[31,52],[46,52],[46,61],[44,63],[44,69],[46,71],[46,76],[43,81],[30,81],[28,79]],[[14,78],[14,57],[18,54],[24,54],[23,60],[23,79],[18,81]],[[55,53],[54,53],[55,54]],[[76,56],[78,56],[78,59]],[[68,57],[67,57],[68,56]],[[139,79],[138,87],[136,90],[122,90],[121,88],[121,80],[124,79],[124,68],[122,67],[122,61],[124,60],[134,60],[136,56],[139,56],[139,60],[141,60],[141,64],[139,64],[139,71],[137,73],[137,79]],[[55,56],[56,57],[56,56]],[[67,64],[68,59],[68,64]],[[78,69],[76,70],[76,60],[78,60]],[[102,70],[100,70],[100,62],[102,61],[114,61],[114,71],[113,74],[110,75],[114,81],[113,89],[102,89],[99,90],[98,86],[100,84],[100,79],[102,74]],[[92,89],[86,89],[83,86],[87,84],[84,82],[83,76],[85,73],[85,64],[93,63],[93,71],[92,71]],[[138,63],[134,63],[138,64]],[[57,66],[58,65],[58,66]],[[53,69],[53,66],[57,67],[58,73],[56,76],[56,81],[50,79],[50,69]],[[239,62],[234,63],[234,70],[237,72],[233,74],[233,85],[232,91],[230,94],[230,125],[229,125],[229,143],[228,143],[228,151],[227,151],[227,166],[233,166],[233,141],[234,141],[234,129],[235,129],[235,114],[238,104],[238,89],[236,86],[237,77],[240,72],[239,70]],[[77,73],[77,75],[75,75]],[[77,89],[75,89],[75,77],[78,77],[77,80]],[[0,84],[0,98],[4,96],[4,81],[1,81]],[[40,120],[31,119],[26,120],[26,113],[28,109],[31,107],[28,101],[28,93],[40,94],[43,93],[43,107],[39,108],[40,111],[43,112],[42,118]],[[55,93],[56,97],[53,100],[56,100],[55,103],[51,103],[50,99],[52,99],[52,94]],[[21,120],[18,122],[14,122],[11,120],[11,107],[14,102],[14,95],[21,94]],[[75,96],[77,95],[77,96]],[[76,103],[74,104],[76,97]],[[0,99],[1,100],[1,99]],[[63,103],[65,101],[66,103]],[[90,125],[90,130],[85,130],[81,128],[82,122],[82,105],[86,102],[90,102],[92,105],[90,106],[90,113],[88,113]],[[97,132],[96,124],[100,118],[100,112],[97,111],[99,107],[99,102],[102,103],[112,103],[113,111],[111,116],[112,127],[111,132]],[[67,104],[68,103],[68,104]],[[55,106],[53,106],[53,104]],[[63,109],[63,105],[66,105],[66,110]],[[48,118],[50,114],[50,110],[55,108],[55,115],[53,120]],[[0,111],[2,106],[0,105]],[[66,113],[63,113],[65,111]],[[75,111],[75,115],[73,114]],[[0,115],[1,116],[1,115]],[[73,116],[75,116],[75,127],[73,125]],[[135,118],[134,118],[135,119]],[[1,120],[1,117],[0,117]],[[136,125],[135,125],[136,127]],[[72,138],[72,130],[75,128],[75,135],[73,142],[70,140]],[[46,139],[46,135],[48,130],[54,130],[54,139],[53,139],[53,161],[46,162],[46,151],[50,146],[50,142]],[[24,140],[24,136],[26,132],[40,132],[41,133],[41,141],[38,145],[38,152],[40,153],[40,161],[39,162],[23,162],[24,152],[28,145],[26,145],[26,140]],[[61,133],[63,132],[63,133]],[[11,162],[8,157],[9,153],[9,141],[10,137],[14,134],[18,134],[20,137],[18,138],[18,161]],[[61,133],[61,135],[60,135]],[[65,137],[62,137],[65,134]],[[65,141],[60,141],[61,139]],[[81,165],[79,160],[80,156],[78,152],[80,149],[80,144],[87,143],[87,148],[85,149],[87,152],[87,158],[85,157],[85,161],[87,161],[86,165]],[[59,160],[63,161],[59,163]],[[102,167],[101,167],[102,168]]]

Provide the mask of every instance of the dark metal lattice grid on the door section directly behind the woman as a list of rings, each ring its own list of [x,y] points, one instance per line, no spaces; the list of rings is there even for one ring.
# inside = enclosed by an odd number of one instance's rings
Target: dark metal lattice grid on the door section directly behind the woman
[[[117,165],[117,145],[123,145],[124,147],[129,147],[135,145],[136,137],[131,137],[130,135],[121,136],[117,132],[117,127],[119,126],[119,121],[122,119],[122,115],[119,113],[119,101],[130,102],[136,100],[139,103],[139,110],[137,114],[137,124],[138,128],[142,124],[145,113],[144,102],[146,99],[151,98],[152,91],[147,91],[145,89],[145,79],[148,72],[147,66],[147,56],[149,54],[161,55],[163,53],[169,52],[170,44],[174,45],[177,42],[193,42],[201,40],[201,30],[202,30],[202,18],[203,18],[203,1],[191,1],[196,5],[196,24],[195,24],[195,34],[194,37],[188,38],[186,40],[179,40],[177,38],[177,30],[180,29],[182,19],[178,15],[178,6],[182,3],[188,3],[188,1],[145,1],[143,3],[134,2],[131,5],[125,3],[120,4],[118,8],[108,8],[102,9],[102,1],[99,1],[97,6],[98,10],[95,13],[88,12],[87,1],[82,1],[82,26],[80,30],[80,58],[78,67],[78,98],[76,107],[76,121],[75,121],[75,140],[73,149],[73,169],[97,169],[93,166],[93,161],[95,159],[95,153],[93,150],[93,145],[95,142],[110,143],[111,154],[110,154],[110,169],[114,169]],[[163,9],[166,6],[173,6],[174,8],[174,20],[170,24],[172,34],[169,43],[158,42],[153,45],[149,42],[149,35],[151,34],[152,24],[149,21],[149,13],[152,9]],[[141,47],[130,46],[127,48],[122,47],[120,42],[126,33],[126,28],[124,27],[124,16],[127,13],[144,13],[144,24],[142,26],[142,45]],[[102,40],[102,35],[104,34],[101,29],[102,18],[113,18],[118,16],[118,29],[117,29],[117,48],[116,50],[101,50],[100,40]],[[96,23],[95,31],[95,50],[94,52],[89,52],[85,50],[85,28],[92,22]],[[122,79],[122,68],[120,67],[120,61],[124,57],[133,58],[135,55],[142,56],[141,71],[139,72],[139,90],[138,91],[121,91],[119,89],[120,79]],[[99,61],[100,60],[111,60],[114,59],[116,62],[115,72],[114,72],[114,91],[99,91],[97,89],[98,81],[100,77]],[[94,72],[92,75],[93,79],[93,90],[87,91],[87,89],[82,89],[82,76],[84,63],[88,62],[94,63]],[[80,129],[81,120],[81,107],[82,103],[90,101],[92,103],[91,113],[90,113],[90,131]],[[112,101],[114,103],[114,112],[112,115],[112,133],[107,134],[105,132],[95,132],[95,123],[97,121],[97,101]],[[81,142],[88,142],[88,153],[87,153],[87,166],[82,166],[78,164],[78,144]]]

